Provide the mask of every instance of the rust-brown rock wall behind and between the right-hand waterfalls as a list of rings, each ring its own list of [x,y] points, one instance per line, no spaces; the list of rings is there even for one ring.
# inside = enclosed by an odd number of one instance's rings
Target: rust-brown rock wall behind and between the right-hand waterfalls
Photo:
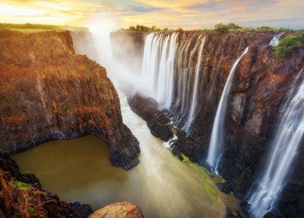
[[[199,39],[205,37],[205,44],[199,67],[194,119],[188,134],[177,132],[178,140],[174,140],[172,148],[174,154],[182,152],[193,162],[203,165],[217,105],[227,77],[234,62],[249,46],[248,53],[240,60],[235,73],[227,99],[226,116],[221,118],[225,128],[225,147],[218,170],[227,181],[222,187],[223,191],[232,191],[242,200],[250,197],[250,190],[264,172],[270,141],[279,124],[282,107],[294,78],[304,66],[304,49],[298,49],[289,58],[275,58],[274,49],[269,45],[275,34],[278,33],[178,33],[178,55],[174,66],[174,91],[170,112],[180,128],[186,124],[194,93],[198,48],[202,43]],[[184,97],[181,97],[181,92],[186,93]],[[290,172],[290,179],[286,182],[275,216],[297,217],[304,213],[303,160],[304,144]]]

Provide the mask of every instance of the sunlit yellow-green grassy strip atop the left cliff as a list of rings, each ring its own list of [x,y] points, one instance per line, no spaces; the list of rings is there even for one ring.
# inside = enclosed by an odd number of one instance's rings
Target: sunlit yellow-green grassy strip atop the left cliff
[[[57,26],[57,25],[47,25],[47,24],[15,24],[15,23],[0,23],[0,30],[12,30],[19,31],[23,33],[33,33],[42,31],[65,31],[65,30],[78,30],[87,31],[85,27],[75,27],[75,26]]]

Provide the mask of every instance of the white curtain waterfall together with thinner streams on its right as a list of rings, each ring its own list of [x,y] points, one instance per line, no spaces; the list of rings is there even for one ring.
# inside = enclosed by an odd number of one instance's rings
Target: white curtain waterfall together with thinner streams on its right
[[[173,96],[176,95],[178,113],[186,118],[183,130],[188,133],[196,117],[206,36],[195,34],[182,42],[178,39],[179,33],[147,35],[143,54],[142,83],[143,88],[168,109],[171,107]]]

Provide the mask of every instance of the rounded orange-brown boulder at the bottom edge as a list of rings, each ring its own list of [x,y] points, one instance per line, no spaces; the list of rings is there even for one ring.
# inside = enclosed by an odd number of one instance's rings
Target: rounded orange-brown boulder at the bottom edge
[[[143,218],[143,215],[137,206],[128,201],[109,204],[94,213],[88,218]]]

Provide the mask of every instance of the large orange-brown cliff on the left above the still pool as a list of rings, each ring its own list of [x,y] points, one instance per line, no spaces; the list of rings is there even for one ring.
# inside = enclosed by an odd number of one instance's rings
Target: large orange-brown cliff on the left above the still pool
[[[139,143],[123,124],[105,68],[75,55],[68,31],[2,31],[0,51],[0,149],[13,155],[91,133],[110,144],[113,165],[139,163]]]

